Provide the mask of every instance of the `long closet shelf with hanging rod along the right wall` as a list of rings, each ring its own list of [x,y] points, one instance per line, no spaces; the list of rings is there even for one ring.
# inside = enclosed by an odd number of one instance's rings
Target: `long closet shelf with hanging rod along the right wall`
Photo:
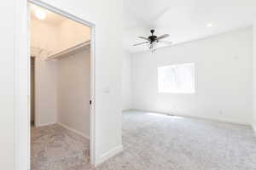
[[[81,43],[79,43],[79,44],[77,44],[77,45],[75,45],[75,46],[73,46],[71,48],[67,48],[67,49],[65,49],[65,50],[63,50],[61,52],[56,53],[56,54],[51,54],[45,60],[48,61],[50,59],[61,58],[61,57],[65,56],[65,55],[67,55],[67,54],[75,52],[75,51],[77,51],[77,50],[79,50],[81,48],[84,48],[84,47],[88,46],[88,45],[90,45],[90,40],[87,41],[87,42],[81,42]]]

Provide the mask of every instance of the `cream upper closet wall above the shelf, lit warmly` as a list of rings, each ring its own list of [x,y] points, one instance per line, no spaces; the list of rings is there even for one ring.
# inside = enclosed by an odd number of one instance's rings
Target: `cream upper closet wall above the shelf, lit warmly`
[[[87,41],[90,41],[90,27],[79,22],[64,18],[60,23],[54,24],[35,17],[31,19],[32,52],[40,55],[44,53],[44,59]]]

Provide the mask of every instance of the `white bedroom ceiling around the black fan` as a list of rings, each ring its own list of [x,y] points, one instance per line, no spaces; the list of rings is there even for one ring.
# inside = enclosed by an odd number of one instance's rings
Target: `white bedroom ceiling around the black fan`
[[[131,53],[148,50],[138,36],[170,34],[174,44],[251,26],[256,20],[256,0],[125,0],[124,48]],[[211,23],[212,27],[207,27]]]

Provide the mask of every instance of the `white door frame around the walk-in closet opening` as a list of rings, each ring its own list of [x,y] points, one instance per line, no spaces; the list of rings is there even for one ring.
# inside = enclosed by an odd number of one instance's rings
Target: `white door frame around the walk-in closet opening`
[[[70,20],[90,26],[90,164],[95,165],[95,40],[96,25],[70,14],[61,8],[56,8],[40,0],[15,0],[15,170],[30,169],[31,137],[30,137],[30,8],[28,3],[46,8],[56,14],[61,14]],[[88,101],[89,102],[89,101]]]

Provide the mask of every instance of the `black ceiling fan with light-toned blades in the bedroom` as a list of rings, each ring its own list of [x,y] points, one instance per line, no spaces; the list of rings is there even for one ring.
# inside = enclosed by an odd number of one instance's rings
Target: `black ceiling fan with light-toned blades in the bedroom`
[[[151,36],[149,36],[149,37],[139,37],[143,40],[147,40],[147,42],[139,42],[139,43],[133,44],[133,46],[148,44],[149,50],[154,52],[155,48],[156,48],[156,45],[159,42],[160,43],[165,43],[165,44],[172,44],[172,42],[170,42],[170,41],[162,41],[162,39],[164,39],[166,37],[169,37],[170,36],[169,34],[164,34],[160,37],[157,37],[157,36],[154,35],[154,30],[151,30],[150,32],[151,32]]]

